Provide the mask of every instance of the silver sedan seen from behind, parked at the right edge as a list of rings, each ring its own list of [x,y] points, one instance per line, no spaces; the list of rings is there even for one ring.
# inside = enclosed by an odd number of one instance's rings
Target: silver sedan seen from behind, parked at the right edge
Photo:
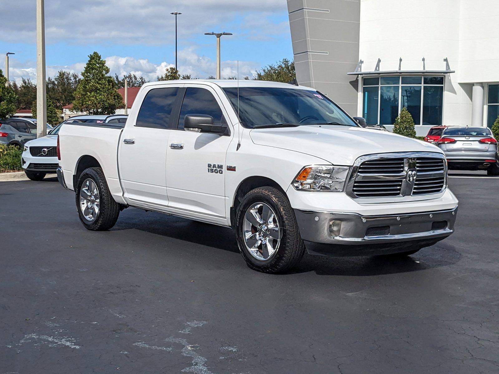
[[[437,141],[450,170],[487,170],[499,175],[497,140],[488,127],[447,127]]]

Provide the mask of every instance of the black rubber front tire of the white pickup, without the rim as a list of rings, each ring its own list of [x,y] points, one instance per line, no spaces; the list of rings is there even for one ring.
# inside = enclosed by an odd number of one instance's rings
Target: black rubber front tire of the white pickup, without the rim
[[[257,202],[263,202],[272,208],[277,216],[279,228],[282,229],[277,250],[265,260],[253,257],[246,246],[243,234],[245,214],[250,206]],[[258,187],[244,196],[236,213],[236,237],[248,266],[264,273],[279,274],[289,270],[300,261],[305,252],[293,208],[286,195],[274,187]]]

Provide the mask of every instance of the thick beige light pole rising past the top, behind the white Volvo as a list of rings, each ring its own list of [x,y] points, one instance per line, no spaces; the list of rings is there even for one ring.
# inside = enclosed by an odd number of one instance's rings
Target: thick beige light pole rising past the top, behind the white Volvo
[[[36,136],[47,135],[47,95],[45,87],[45,8],[36,0]]]

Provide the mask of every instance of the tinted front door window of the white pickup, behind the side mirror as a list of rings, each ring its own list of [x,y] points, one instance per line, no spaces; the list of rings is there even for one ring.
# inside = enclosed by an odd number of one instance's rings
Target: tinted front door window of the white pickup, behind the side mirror
[[[184,128],[184,119],[188,114],[205,114],[213,117],[215,125],[227,124],[215,96],[205,88],[187,88],[180,111],[179,129]]]

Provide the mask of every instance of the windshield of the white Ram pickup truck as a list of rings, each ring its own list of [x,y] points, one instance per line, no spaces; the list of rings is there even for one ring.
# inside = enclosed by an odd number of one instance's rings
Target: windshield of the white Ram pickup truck
[[[224,88],[238,111],[238,88]],[[295,88],[240,87],[239,115],[243,126],[335,124],[358,127],[338,106],[317,91]]]

